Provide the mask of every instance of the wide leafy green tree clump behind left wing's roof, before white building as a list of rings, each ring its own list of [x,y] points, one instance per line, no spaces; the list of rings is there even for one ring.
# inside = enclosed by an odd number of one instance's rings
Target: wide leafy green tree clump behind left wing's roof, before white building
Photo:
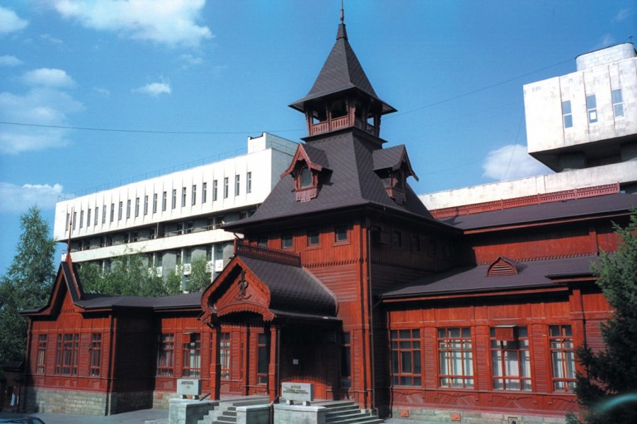
[[[142,252],[128,251],[111,261],[108,271],[96,264],[83,264],[79,278],[86,292],[127,296],[167,296],[180,293],[180,285],[162,278],[149,266]]]

